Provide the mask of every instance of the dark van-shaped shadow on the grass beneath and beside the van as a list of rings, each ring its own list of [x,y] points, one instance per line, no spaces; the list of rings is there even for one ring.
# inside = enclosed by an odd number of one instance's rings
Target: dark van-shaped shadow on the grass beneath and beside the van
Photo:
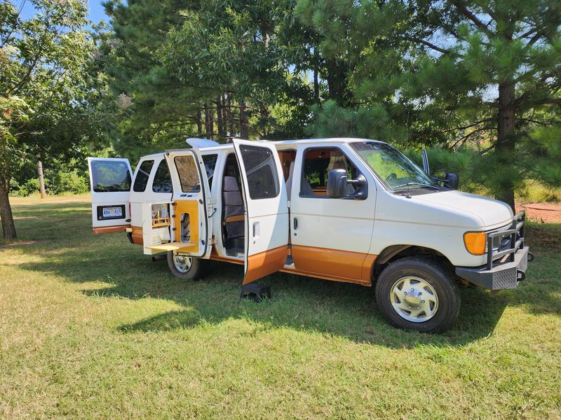
[[[117,239],[117,235],[111,237]],[[450,330],[442,335],[406,332],[386,323],[375,305],[372,288],[277,273],[262,279],[262,283],[271,286],[273,298],[254,303],[239,298],[243,278],[240,266],[209,262],[209,274],[204,280],[184,282],[171,276],[165,261],[151,262],[147,256],[139,255],[140,247],[121,239],[111,245],[106,241],[102,247],[68,249],[62,258],[21,267],[56,272],[76,283],[111,283],[104,288],[82,290],[86,295],[154,297],[185,308],[121,325],[122,332],[194,328],[201,322],[247,318],[271,327],[319,332],[391,348],[419,344],[461,346],[490,335],[509,303],[506,295],[464,289],[461,312]]]

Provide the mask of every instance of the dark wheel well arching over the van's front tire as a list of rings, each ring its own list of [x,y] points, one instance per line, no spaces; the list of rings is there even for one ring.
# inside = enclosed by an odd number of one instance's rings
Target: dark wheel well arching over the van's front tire
[[[457,278],[456,273],[454,272],[455,267],[452,262],[450,262],[445,255],[435,249],[416,245],[392,245],[385,248],[384,251],[381,251],[378,258],[376,258],[372,273],[372,283],[374,283],[382,270],[391,264],[391,262],[405,257],[420,257],[425,258],[426,260],[433,260],[440,267],[445,269],[453,279]]]

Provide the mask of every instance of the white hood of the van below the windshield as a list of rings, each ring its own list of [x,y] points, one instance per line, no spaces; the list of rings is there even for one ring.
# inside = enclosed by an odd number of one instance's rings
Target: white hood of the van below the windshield
[[[480,218],[485,230],[500,228],[510,223],[514,216],[511,207],[504,202],[457,190],[416,195],[414,200],[473,214]]]

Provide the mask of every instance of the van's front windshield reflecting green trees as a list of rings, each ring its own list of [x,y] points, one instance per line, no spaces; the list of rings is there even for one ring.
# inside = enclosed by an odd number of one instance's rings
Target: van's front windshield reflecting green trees
[[[350,145],[391,190],[417,188],[440,190],[438,183],[431,176],[396,148],[376,141],[362,141]]]

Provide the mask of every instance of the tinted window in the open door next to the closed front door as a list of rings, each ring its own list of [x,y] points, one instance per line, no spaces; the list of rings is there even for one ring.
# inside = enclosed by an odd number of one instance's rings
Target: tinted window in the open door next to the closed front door
[[[278,172],[269,149],[256,146],[240,146],[248,188],[252,200],[276,197],[280,191]]]

